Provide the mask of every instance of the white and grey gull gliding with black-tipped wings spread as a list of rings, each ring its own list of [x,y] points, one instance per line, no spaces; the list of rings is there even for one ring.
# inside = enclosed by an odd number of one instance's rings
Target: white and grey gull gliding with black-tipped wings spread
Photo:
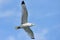
[[[26,5],[25,5],[24,1],[21,2],[21,6],[22,6],[21,25],[17,26],[16,29],[23,28],[25,30],[25,32],[27,32],[27,34],[29,35],[29,37],[31,39],[35,39],[33,31],[30,29],[30,27],[34,26],[34,24],[28,23],[28,12],[27,12]]]

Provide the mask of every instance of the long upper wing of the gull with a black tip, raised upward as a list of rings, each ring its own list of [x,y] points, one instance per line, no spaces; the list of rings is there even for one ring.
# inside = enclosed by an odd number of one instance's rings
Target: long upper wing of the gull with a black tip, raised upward
[[[21,20],[21,24],[24,24],[24,23],[27,22],[28,12],[27,12],[26,5],[25,5],[24,1],[22,1],[21,5],[22,5],[22,20]]]

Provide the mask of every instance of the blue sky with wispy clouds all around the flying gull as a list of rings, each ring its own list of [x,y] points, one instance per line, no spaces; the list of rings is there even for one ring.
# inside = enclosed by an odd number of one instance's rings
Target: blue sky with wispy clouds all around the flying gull
[[[22,0],[0,0],[0,40],[32,40],[21,23]],[[34,40],[60,40],[60,0],[25,0]]]

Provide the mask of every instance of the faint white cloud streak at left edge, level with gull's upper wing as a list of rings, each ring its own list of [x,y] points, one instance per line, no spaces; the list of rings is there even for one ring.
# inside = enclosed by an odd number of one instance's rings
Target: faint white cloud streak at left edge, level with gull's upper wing
[[[13,8],[13,9],[7,10],[5,12],[0,12],[0,18],[11,17],[11,16],[16,15],[16,14],[17,14],[17,11],[15,8]]]

